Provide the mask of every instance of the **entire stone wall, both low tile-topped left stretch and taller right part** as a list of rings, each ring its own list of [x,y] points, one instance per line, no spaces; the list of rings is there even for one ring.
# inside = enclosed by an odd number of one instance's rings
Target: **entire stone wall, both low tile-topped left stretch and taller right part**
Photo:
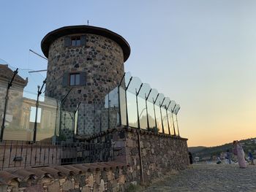
[[[187,139],[181,137],[119,127],[88,141],[111,142],[115,161],[1,171],[0,191],[126,191],[131,183],[189,166]]]

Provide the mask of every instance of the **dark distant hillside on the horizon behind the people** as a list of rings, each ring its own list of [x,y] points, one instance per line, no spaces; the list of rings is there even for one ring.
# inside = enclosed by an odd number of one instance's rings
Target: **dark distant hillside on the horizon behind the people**
[[[241,145],[244,148],[244,152],[248,154],[248,150],[252,151],[252,154],[256,158],[256,138],[240,140]],[[225,153],[227,150],[233,151],[233,142],[226,143],[224,145],[219,145],[216,147],[189,147],[189,151],[192,156],[199,157],[200,160],[212,160],[214,156],[219,156]]]

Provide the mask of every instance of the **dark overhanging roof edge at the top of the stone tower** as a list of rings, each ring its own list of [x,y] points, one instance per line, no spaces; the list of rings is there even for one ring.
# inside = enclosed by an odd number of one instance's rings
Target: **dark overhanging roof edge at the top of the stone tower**
[[[121,37],[121,35],[118,35],[115,32],[108,30],[107,28],[100,28],[95,26],[64,26],[61,28],[57,28],[56,30],[50,31],[50,33],[46,34],[45,37],[42,39],[41,49],[45,57],[48,58],[50,45],[56,39],[70,34],[97,34],[113,40],[123,50],[124,62],[127,61],[131,53],[129,43],[124,39],[124,37]]]

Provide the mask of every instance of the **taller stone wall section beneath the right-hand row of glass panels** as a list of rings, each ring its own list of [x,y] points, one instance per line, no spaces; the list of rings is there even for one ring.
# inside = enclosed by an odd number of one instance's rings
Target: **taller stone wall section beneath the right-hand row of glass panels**
[[[181,137],[120,127],[94,135],[90,139],[91,142],[114,142],[114,159],[129,164],[129,180],[150,181],[173,169],[185,169],[189,166],[187,139]]]

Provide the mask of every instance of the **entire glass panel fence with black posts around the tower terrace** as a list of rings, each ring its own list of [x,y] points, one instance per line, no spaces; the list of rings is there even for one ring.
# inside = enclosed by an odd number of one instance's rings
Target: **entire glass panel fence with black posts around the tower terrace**
[[[18,79],[10,87],[6,109],[10,79],[0,83],[0,122],[2,125],[4,119],[5,140],[35,142],[57,138],[73,142],[75,137],[86,138],[117,126],[179,136],[180,106],[129,72],[124,73],[116,88],[108,89],[105,98],[90,104],[77,101],[73,111],[64,110],[64,101],[44,96],[45,77],[41,74],[31,74],[26,69],[15,78]]]

